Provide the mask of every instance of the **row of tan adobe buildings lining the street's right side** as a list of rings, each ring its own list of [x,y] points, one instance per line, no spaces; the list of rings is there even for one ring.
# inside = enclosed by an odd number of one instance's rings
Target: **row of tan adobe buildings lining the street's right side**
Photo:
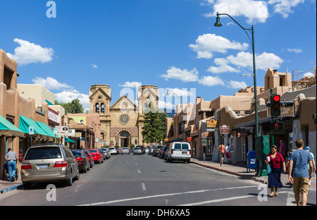
[[[282,122],[282,130],[274,132],[275,145],[283,140],[287,152],[294,149],[294,141],[302,138],[306,146],[316,157],[316,68],[310,77],[292,80],[291,73],[279,73],[269,68],[264,87],[257,87],[259,135],[271,135],[267,124],[271,116],[267,114],[266,102],[269,101],[270,89],[280,94],[281,100],[294,103],[292,116],[279,116],[275,120]],[[232,96],[220,95],[212,101],[197,97],[195,104],[184,106],[185,141],[189,138],[195,156],[219,161],[217,154],[220,145],[220,126],[229,126],[230,133],[224,135],[223,143],[232,146],[232,162],[246,163],[247,152],[255,150],[254,87],[239,90]],[[190,115],[189,117],[187,117]],[[206,128],[206,122],[216,121],[216,126]],[[177,106],[173,118],[166,118],[166,143],[182,140],[182,111]],[[204,140],[204,142],[202,141]]]

